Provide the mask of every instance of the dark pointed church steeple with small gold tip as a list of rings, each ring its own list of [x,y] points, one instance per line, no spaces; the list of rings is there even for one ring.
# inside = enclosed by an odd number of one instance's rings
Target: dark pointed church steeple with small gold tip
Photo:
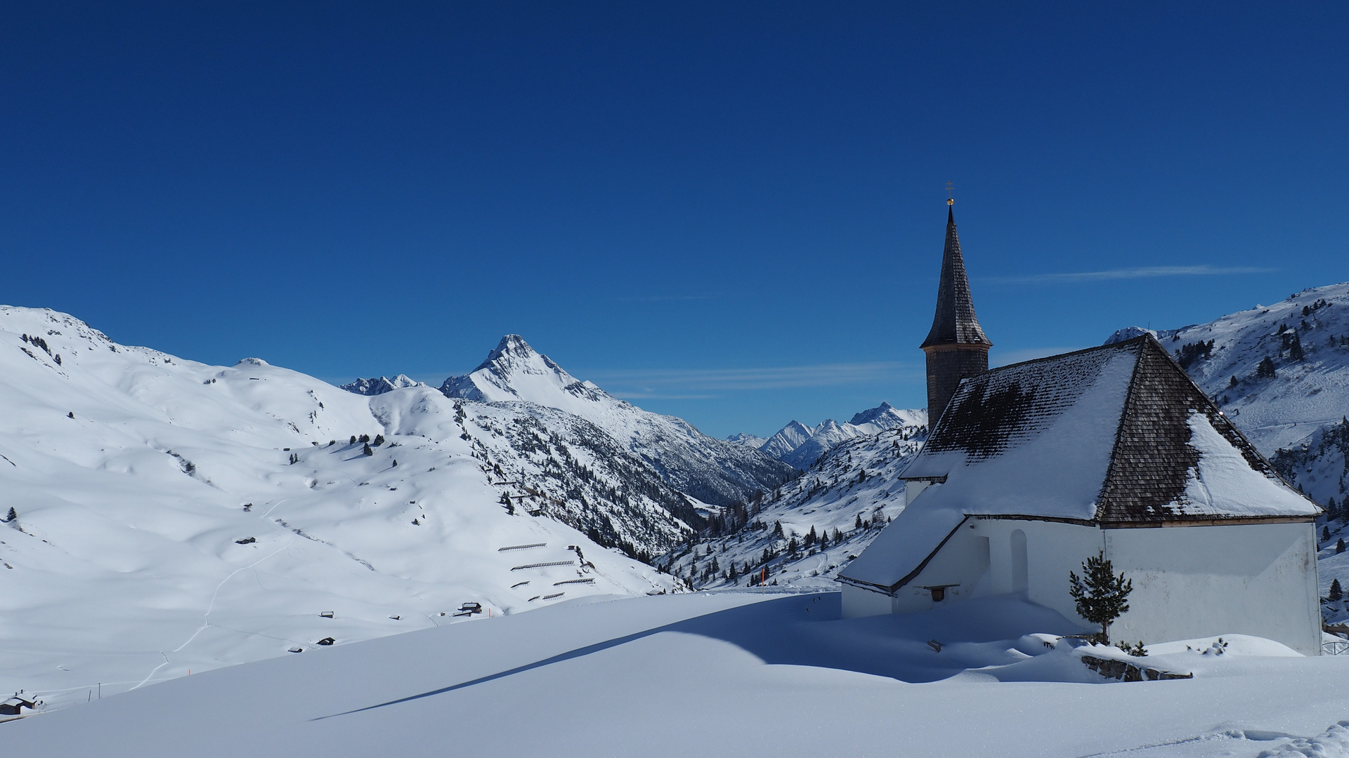
[[[946,204],[946,248],[942,251],[936,313],[932,316],[932,330],[920,345],[927,353],[929,428],[936,426],[960,379],[989,370],[989,348],[993,347],[974,316],[960,236],[955,232],[955,201],[947,200]]]

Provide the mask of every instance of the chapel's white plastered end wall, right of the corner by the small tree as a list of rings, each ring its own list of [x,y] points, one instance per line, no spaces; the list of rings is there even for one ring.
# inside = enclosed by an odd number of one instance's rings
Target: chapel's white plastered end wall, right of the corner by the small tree
[[[1112,641],[1251,634],[1321,653],[1315,525],[1109,529],[1105,544],[1133,581]]]

